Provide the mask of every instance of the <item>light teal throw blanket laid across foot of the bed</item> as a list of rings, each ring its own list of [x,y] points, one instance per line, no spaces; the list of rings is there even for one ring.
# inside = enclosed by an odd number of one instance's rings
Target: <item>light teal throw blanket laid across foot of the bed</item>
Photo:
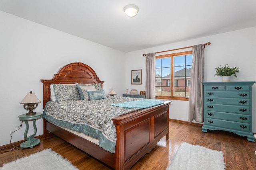
[[[134,100],[134,101],[124,102],[124,103],[113,103],[112,105],[117,107],[125,107],[126,109],[131,109],[131,108],[144,109],[148,107],[157,106],[163,103],[164,102],[160,100],[143,99],[143,100]]]

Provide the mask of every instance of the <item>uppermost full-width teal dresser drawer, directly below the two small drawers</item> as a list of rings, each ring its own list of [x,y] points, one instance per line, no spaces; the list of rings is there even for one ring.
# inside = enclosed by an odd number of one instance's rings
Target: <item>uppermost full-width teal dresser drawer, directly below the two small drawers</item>
[[[241,98],[241,99],[250,99],[250,92],[214,92],[211,91],[205,91],[205,96],[211,96],[211,97],[224,97],[224,98]]]

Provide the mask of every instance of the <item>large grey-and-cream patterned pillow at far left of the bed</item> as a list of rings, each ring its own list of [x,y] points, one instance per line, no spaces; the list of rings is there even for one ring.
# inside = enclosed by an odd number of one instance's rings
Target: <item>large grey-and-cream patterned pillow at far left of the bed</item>
[[[80,99],[76,84],[52,84],[56,101]]]

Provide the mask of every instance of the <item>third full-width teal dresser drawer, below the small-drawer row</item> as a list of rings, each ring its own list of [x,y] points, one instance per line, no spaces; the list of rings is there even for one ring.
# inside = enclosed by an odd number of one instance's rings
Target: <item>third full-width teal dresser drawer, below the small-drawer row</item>
[[[221,111],[227,113],[239,113],[243,115],[250,114],[249,106],[232,106],[232,105],[222,105],[222,104],[204,104],[204,109],[206,111]]]

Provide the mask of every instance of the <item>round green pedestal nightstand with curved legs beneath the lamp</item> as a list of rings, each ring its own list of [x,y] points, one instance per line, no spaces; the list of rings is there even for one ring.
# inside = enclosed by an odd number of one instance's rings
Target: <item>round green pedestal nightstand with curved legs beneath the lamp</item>
[[[25,133],[24,133],[24,138],[25,138],[25,142],[23,142],[22,144],[20,144],[20,148],[23,149],[23,148],[33,148],[34,146],[38,145],[40,143],[40,139],[36,139],[34,138],[35,135],[36,135],[36,119],[40,119],[42,117],[42,114],[43,113],[36,113],[34,115],[26,115],[26,114],[23,114],[23,115],[19,115],[19,119],[20,121],[24,121],[25,124],[26,124],[26,130],[25,130]],[[29,128],[29,125],[28,125],[28,121],[31,121],[33,120],[33,126],[34,126],[34,133],[33,135],[30,135],[29,137],[28,136],[28,128]]]

